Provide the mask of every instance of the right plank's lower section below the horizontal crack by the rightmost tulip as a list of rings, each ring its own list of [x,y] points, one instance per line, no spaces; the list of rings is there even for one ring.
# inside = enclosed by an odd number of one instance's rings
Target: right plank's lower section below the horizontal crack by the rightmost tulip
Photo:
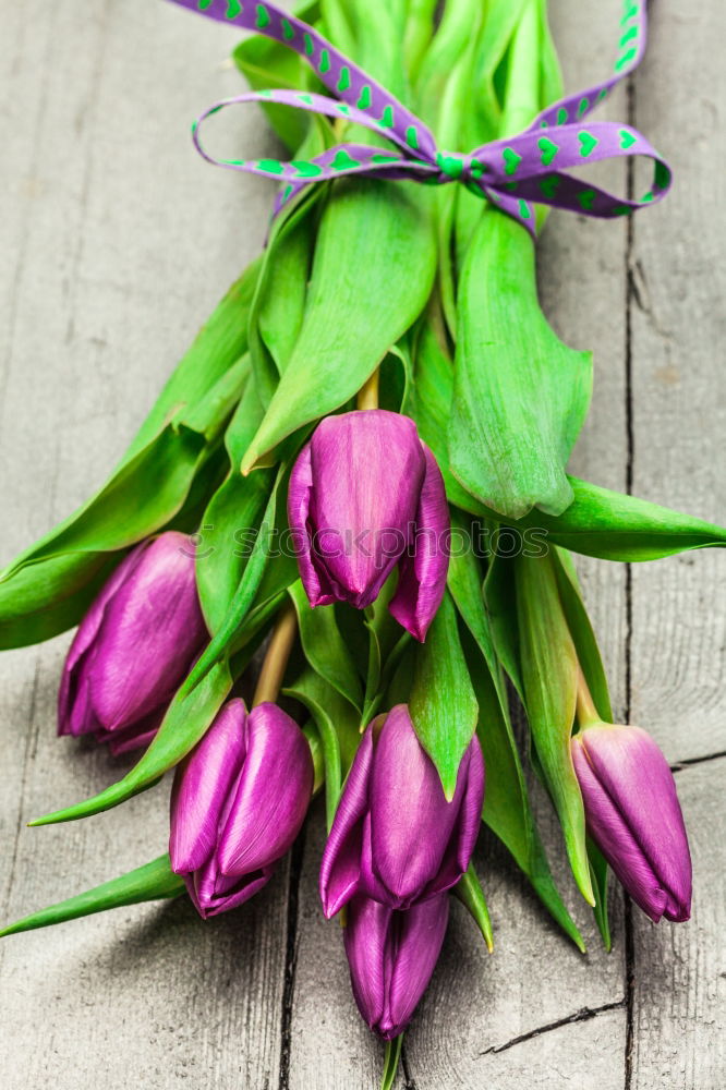
[[[633,1090],[726,1086],[726,759],[676,775],[693,856],[690,923],[636,921]]]

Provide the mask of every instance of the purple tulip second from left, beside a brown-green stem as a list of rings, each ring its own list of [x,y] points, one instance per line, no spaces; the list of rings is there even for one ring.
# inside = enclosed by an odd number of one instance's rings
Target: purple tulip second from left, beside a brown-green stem
[[[230,700],[179,765],[171,794],[171,869],[204,919],[269,882],[300,832],[313,794],[313,759],[298,724],[276,704],[247,712]]]

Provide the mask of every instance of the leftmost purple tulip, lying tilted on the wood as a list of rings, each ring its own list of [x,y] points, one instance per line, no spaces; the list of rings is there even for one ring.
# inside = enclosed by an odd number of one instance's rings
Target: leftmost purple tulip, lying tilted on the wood
[[[142,542],[81,621],[63,666],[59,735],[94,734],[114,753],[150,741],[207,639],[190,538],[169,531]]]

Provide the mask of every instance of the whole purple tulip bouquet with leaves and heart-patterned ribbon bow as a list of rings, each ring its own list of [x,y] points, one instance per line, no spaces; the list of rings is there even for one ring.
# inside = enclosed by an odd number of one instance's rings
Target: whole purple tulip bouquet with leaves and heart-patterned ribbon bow
[[[562,98],[546,0],[174,2],[258,32],[239,101],[294,158],[215,160],[280,183],[264,254],[109,481],[0,577],[0,646],[78,625],[59,734],[141,752],[31,824],[176,770],[169,848],[4,934],[184,892],[203,919],[231,910],[324,791],[322,907],[390,1085],[450,894],[492,947],[482,820],[584,948],[527,761],[606,945],[608,867],[652,920],[689,917],[674,779],[613,724],[571,553],[651,560],[726,531],[568,475],[592,359],[546,323],[534,267],[543,206],[607,219],[668,187],[644,136],[585,120],[640,60],[645,5],[625,5],[614,75]],[[562,169],[636,154],[655,164],[639,199]]]

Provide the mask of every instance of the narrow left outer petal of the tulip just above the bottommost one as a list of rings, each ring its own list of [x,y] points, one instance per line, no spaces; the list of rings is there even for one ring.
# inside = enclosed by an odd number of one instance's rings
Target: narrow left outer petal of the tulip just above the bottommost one
[[[319,889],[323,912],[328,920],[340,911],[358,888],[372,763],[373,724],[366,728],[353,758],[323,852]]]

